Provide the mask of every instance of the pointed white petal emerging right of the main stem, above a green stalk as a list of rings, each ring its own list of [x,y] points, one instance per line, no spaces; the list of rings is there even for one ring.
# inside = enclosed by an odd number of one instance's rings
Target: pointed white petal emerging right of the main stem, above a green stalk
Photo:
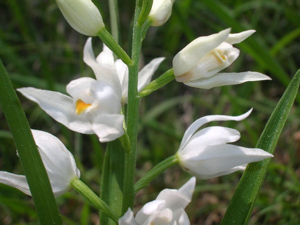
[[[138,92],[140,92],[148,83],[150,83],[151,77],[164,59],[164,57],[155,58],[151,60],[150,63],[145,65],[141,71],[139,71],[137,84]]]

